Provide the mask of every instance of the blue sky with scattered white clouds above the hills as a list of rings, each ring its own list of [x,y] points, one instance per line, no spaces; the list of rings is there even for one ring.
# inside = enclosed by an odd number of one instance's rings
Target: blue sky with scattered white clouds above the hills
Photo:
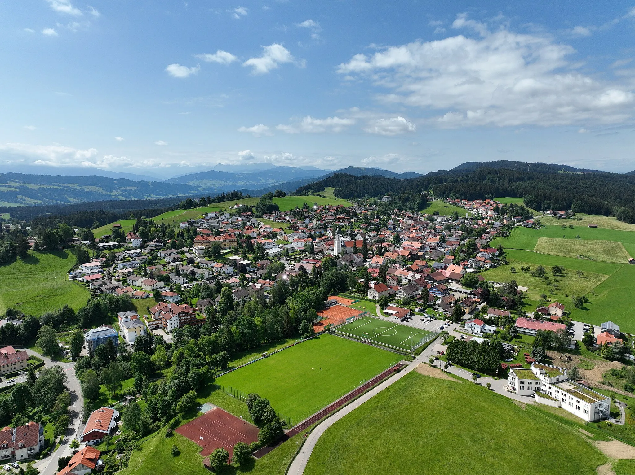
[[[635,169],[635,2],[0,3],[0,171]]]

